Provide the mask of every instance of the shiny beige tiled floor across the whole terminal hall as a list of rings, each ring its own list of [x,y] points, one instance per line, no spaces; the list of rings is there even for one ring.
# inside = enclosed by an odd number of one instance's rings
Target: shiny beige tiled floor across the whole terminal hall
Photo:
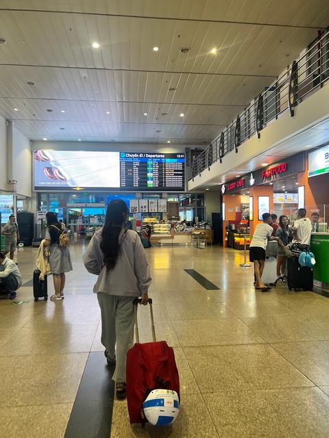
[[[22,304],[0,301],[1,437],[63,437],[88,355],[103,350],[83,248],[71,247],[64,301],[34,302],[30,286],[19,290]],[[35,254],[19,251],[24,283]],[[131,427],[126,403],[115,401],[111,437],[328,437],[329,299],[284,285],[255,293],[239,251],[176,246],[147,255],[156,333],[175,348],[180,371],[180,415],[171,428]],[[138,310],[146,342],[148,309]]]

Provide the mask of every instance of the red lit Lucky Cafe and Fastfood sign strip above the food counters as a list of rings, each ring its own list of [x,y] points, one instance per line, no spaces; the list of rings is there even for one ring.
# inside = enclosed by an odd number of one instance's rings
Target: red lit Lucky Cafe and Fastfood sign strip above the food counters
[[[262,185],[271,181],[276,181],[282,177],[288,177],[297,172],[305,170],[304,155],[296,155],[282,162],[271,164],[266,168],[250,172],[239,179],[234,179],[221,187],[224,194],[233,194],[240,192],[245,188],[251,188],[253,185]]]

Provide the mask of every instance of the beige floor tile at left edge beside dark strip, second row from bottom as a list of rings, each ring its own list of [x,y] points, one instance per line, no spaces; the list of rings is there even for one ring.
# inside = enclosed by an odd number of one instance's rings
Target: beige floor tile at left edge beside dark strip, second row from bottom
[[[87,353],[3,357],[0,407],[73,403]]]

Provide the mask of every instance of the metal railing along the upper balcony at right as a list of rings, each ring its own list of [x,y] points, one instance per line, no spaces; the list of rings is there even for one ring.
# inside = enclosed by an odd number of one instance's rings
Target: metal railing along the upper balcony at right
[[[289,69],[254,99],[187,168],[188,181],[206,168],[223,159],[231,151],[238,152],[242,143],[257,133],[280,114],[302,102],[308,94],[321,88],[329,78],[329,30],[319,32]]]

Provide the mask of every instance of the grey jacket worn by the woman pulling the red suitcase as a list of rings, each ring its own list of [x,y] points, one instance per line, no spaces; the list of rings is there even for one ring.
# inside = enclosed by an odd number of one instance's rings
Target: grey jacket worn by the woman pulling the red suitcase
[[[146,294],[151,276],[145,250],[138,234],[132,230],[121,230],[119,257],[114,268],[108,271],[100,247],[102,231],[103,229],[96,231],[83,256],[86,270],[90,274],[98,275],[94,292],[119,296]]]

